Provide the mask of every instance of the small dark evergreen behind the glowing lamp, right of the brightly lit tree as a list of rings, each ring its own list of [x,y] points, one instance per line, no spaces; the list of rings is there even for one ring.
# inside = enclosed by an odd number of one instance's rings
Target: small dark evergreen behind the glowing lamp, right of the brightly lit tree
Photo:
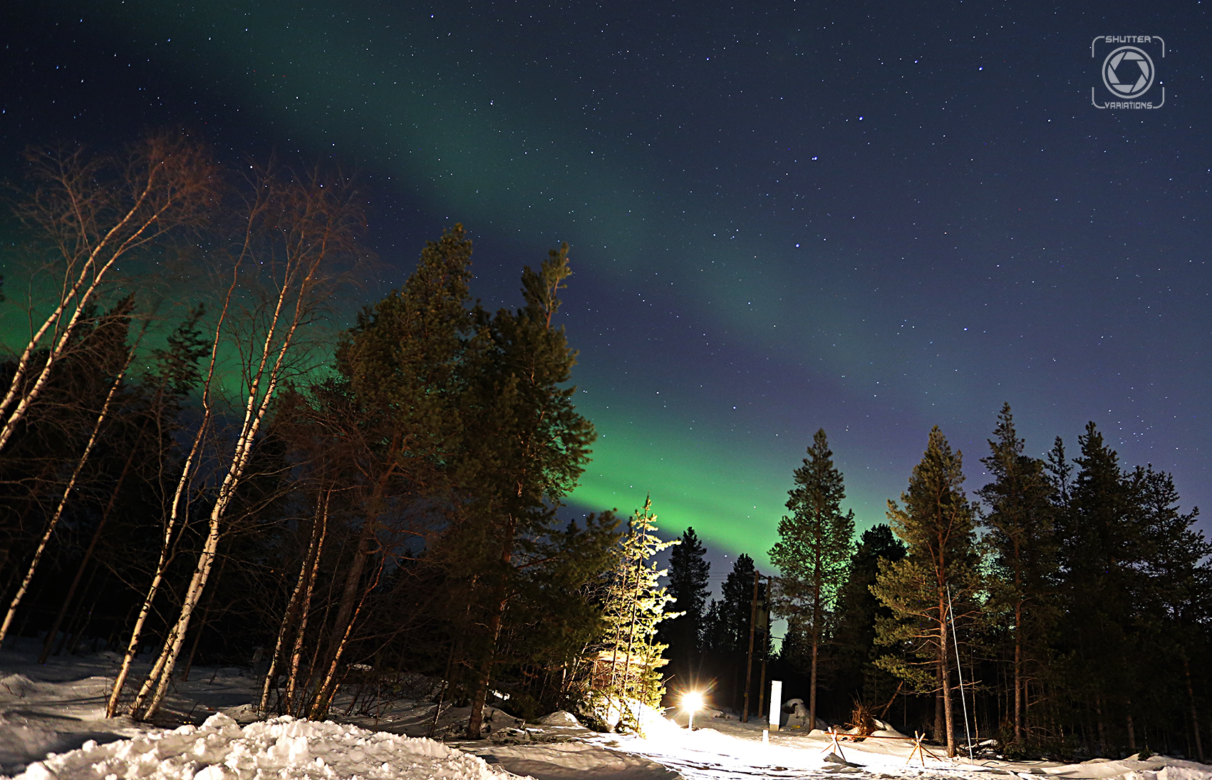
[[[669,596],[674,600],[667,609],[676,610],[676,616],[661,625],[661,640],[669,645],[674,676],[691,684],[699,657],[711,564],[693,528],[687,528],[680,541],[669,553]]]

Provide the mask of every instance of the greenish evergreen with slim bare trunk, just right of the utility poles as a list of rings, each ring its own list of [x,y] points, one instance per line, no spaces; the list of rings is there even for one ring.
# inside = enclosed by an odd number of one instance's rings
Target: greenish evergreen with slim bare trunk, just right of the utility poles
[[[842,514],[846,497],[841,472],[824,429],[817,431],[808,457],[795,469],[795,488],[778,523],[779,541],[770,559],[781,571],[774,611],[807,630],[811,647],[808,723],[817,717],[817,665],[830,608],[844,582],[854,537],[853,511]]]

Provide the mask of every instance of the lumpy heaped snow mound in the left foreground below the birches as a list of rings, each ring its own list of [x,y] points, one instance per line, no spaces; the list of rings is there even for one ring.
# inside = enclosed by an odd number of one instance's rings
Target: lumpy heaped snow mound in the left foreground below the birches
[[[282,716],[244,728],[218,713],[136,739],[51,755],[17,780],[499,780],[482,758],[424,738]],[[1177,780],[1177,779],[1167,779]]]

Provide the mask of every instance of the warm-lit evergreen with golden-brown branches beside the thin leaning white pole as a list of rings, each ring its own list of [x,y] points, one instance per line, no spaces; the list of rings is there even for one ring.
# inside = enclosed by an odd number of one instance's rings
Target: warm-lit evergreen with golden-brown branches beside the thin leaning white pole
[[[954,602],[965,609],[978,585],[974,547],[976,511],[964,493],[962,460],[936,426],[921,462],[913,469],[901,505],[888,501],[892,530],[908,547],[904,559],[881,562],[871,592],[893,617],[876,624],[876,642],[903,645],[920,661],[908,664],[885,655],[877,664],[914,684],[919,693],[936,693],[934,738],[955,755],[951,700],[951,615]],[[970,614],[954,615],[962,620]]]

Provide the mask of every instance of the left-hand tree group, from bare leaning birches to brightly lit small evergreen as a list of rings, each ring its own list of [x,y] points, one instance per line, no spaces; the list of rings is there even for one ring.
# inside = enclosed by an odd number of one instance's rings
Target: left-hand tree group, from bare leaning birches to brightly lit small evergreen
[[[339,171],[228,170],[176,133],[28,161],[25,251],[58,297],[0,363],[0,640],[120,654],[109,713],[143,719],[200,662],[262,674],[267,713],[428,696],[471,735],[499,694],[659,699],[654,516],[556,517],[595,437],[567,246],[488,312],[456,226],[335,332],[365,261]],[[170,278],[188,309],[150,303]]]

